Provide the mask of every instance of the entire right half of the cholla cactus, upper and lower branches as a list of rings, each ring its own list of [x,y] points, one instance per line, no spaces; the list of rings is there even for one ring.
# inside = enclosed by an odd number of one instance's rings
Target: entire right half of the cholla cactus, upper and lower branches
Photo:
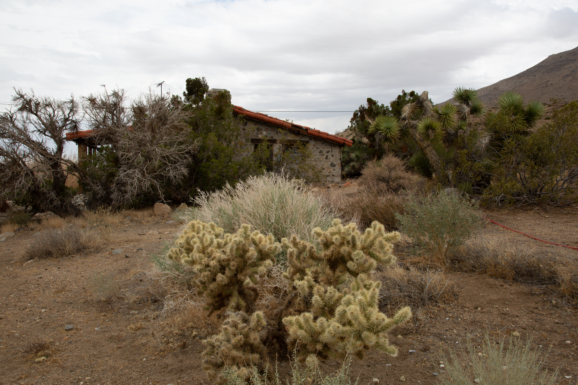
[[[370,347],[395,356],[397,348],[388,342],[387,332],[409,319],[412,312],[403,308],[388,319],[377,308],[380,283],[370,281],[368,275],[377,262],[386,266],[395,262],[391,242],[399,240],[399,233],[386,233],[378,222],[363,235],[354,223],[343,226],[335,219],[332,225],[327,231],[313,230],[320,251],[297,237],[283,240],[289,265],[286,276],[293,279],[309,310],[283,319],[288,342],[298,344],[302,357],[325,357],[331,350],[362,357]],[[355,277],[350,290],[342,285],[347,275]]]

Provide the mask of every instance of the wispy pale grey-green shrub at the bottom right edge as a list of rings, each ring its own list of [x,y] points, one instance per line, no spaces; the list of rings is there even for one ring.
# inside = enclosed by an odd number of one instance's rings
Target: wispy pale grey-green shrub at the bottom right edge
[[[471,339],[467,342],[468,365],[462,366],[455,353],[451,354],[451,363],[446,366],[447,376],[442,377],[443,385],[487,384],[487,385],[553,385],[558,370],[549,375],[548,371],[538,373],[544,360],[538,357],[539,350],[531,349],[532,338],[525,343],[520,338],[510,338],[505,348],[503,338],[495,343],[488,334],[484,337],[481,349],[476,349]],[[447,360],[444,360],[447,361]]]

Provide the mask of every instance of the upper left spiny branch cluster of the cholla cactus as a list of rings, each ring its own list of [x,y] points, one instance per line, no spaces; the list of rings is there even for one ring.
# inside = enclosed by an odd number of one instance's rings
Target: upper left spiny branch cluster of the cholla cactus
[[[255,281],[267,275],[280,252],[271,234],[251,232],[249,225],[223,236],[223,229],[214,223],[194,220],[167,256],[197,271],[192,283],[211,312],[223,308],[252,312],[258,297]]]

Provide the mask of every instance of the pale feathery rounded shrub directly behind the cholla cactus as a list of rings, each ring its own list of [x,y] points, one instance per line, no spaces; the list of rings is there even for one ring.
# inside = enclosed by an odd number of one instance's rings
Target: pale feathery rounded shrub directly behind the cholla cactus
[[[227,184],[213,193],[200,193],[195,199],[197,218],[214,222],[227,233],[235,233],[243,223],[276,241],[296,234],[309,240],[315,227],[327,228],[335,214],[320,196],[307,193],[283,174],[268,173]]]

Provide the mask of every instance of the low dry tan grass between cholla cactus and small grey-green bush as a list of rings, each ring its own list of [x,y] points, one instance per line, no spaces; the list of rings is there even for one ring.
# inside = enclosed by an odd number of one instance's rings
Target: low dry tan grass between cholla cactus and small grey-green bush
[[[380,308],[384,306],[436,305],[457,300],[460,287],[443,270],[409,270],[395,266],[377,272],[382,283],[379,292]]]

